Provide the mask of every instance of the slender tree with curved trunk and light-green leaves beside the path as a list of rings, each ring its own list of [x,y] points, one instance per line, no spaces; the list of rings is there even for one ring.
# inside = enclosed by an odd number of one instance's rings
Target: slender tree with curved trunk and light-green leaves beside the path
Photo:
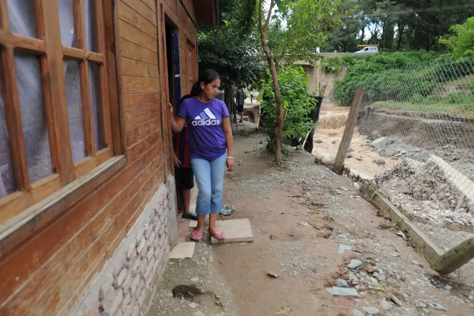
[[[281,161],[281,131],[284,126],[283,104],[278,82],[277,65],[284,60],[292,64],[296,60],[312,61],[313,49],[327,41],[327,31],[340,23],[339,5],[341,0],[270,0],[265,12],[265,1],[259,0],[259,32],[261,45],[270,68],[275,99],[275,161]],[[274,14],[274,9],[276,9]],[[284,21],[283,37],[278,45],[268,43],[270,21]],[[280,25],[283,23],[280,23]],[[275,62],[277,61],[277,63]]]

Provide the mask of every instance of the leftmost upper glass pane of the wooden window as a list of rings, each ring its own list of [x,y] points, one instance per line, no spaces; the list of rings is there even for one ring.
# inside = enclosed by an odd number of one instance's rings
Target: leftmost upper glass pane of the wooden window
[[[6,2],[12,32],[37,37],[35,1],[7,0]]]

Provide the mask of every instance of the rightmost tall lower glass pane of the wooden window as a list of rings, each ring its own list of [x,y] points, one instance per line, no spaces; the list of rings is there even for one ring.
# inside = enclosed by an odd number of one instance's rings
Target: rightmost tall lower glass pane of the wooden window
[[[89,63],[90,99],[94,124],[95,150],[107,147],[104,137],[104,121],[102,115],[102,95],[100,93],[100,66]]]

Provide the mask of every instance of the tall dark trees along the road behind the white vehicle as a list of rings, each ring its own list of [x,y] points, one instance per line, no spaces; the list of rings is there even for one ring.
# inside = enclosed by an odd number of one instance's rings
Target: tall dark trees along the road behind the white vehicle
[[[347,8],[353,12],[348,13]],[[438,40],[452,25],[474,16],[474,2],[344,0],[341,10],[344,23],[329,32],[325,51],[354,51],[357,44],[376,44],[388,50],[443,50]]]

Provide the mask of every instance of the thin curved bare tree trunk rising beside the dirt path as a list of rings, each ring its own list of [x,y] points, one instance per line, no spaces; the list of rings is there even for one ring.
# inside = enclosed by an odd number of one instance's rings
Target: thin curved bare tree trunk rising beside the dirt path
[[[270,21],[271,13],[273,7],[275,6],[275,1],[272,0],[270,3],[270,9],[268,12],[268,16],[264,25],[262,25],[262,6],[263,1],[259,0],[259,30],[260,30],[260,39],[263,47],[263,51],[265,52],[265,57],[267,58],[268,66],[270,67],[270,72],[272,74],[273,80],[273,90],[275,92],[275,103],[277,104],[277,122],[275,124],[274,135],[275,135],[275,161],[277,163],[281,162],[281,141],[280,135],[281,130],[283,129],[283,107],[281,105],[281,96],[280,96],[280,86],[278,85],[278,73],[277,68],[275,66],[275,62],[272,57],[272,53],[270,52],[270,48],[268,47],[267,43],[267,30],[268,30],[268,23]]]

